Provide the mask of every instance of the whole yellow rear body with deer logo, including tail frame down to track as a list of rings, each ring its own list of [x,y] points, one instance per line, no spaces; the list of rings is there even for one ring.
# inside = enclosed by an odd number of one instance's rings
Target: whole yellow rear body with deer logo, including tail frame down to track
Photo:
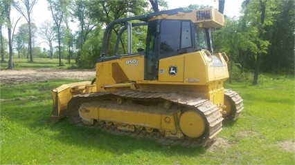
[[[218,62],[218,64],[216,64]],[[177,75],[169,75],[170,66],[177,66]],[[159,81],[136,81],[145,91],[187,93],[209,99],[221,106],[224,103],[224,81],[229,77],[227,64],[220,53],[215,58],[204,51],[159,60]]]

